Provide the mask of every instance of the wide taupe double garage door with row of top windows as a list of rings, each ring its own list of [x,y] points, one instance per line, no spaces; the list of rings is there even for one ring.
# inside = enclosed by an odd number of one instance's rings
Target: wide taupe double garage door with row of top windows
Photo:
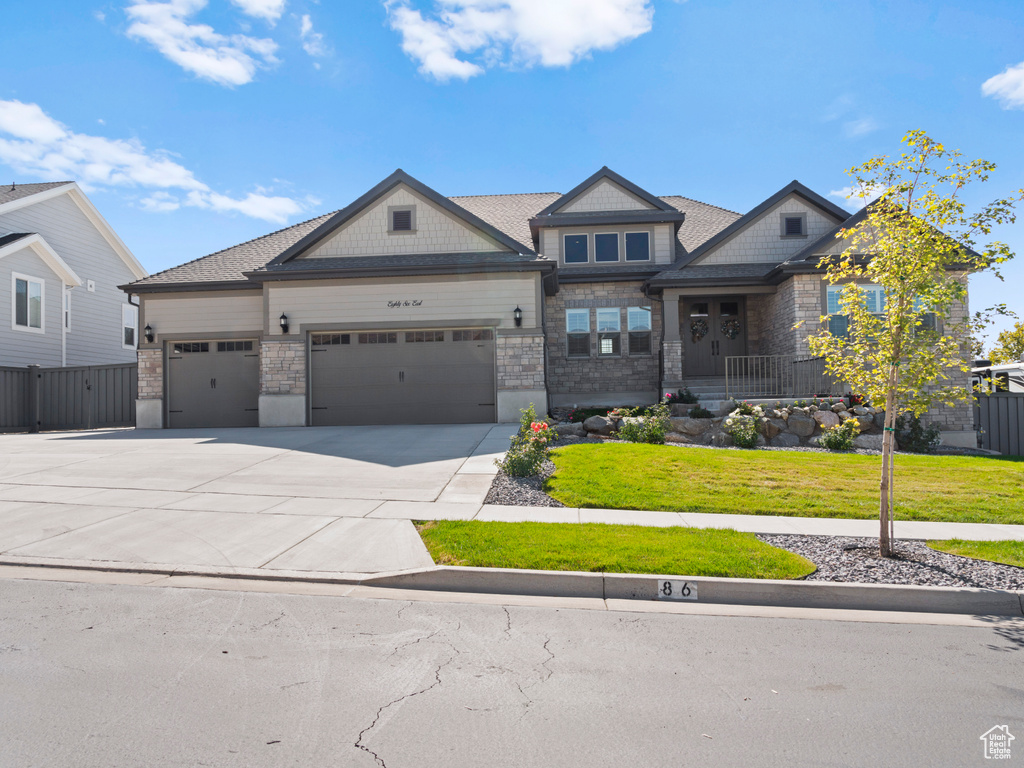
[[[313,426],[495,421],[492,329],[310,334]]]

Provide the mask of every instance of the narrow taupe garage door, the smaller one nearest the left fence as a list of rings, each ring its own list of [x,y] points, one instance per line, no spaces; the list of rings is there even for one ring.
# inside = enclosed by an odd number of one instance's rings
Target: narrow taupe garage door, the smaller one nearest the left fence
[[[257,427],[259,343],[170,344],[167,385],[169,427]]]

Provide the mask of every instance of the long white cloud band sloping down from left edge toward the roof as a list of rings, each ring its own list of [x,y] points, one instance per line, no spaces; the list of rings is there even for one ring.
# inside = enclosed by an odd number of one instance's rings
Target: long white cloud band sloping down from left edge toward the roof
[[[243,198],[214,191],[163,151],[148,151],[138,139],[75,133],[34,103],[0,100],[0,162],[17,173],[57,180],[75,179],[86,188],[150,189],[140,205],[147,211],[173,211],[184,205],[237,212],[284,223],[315,205],[312,200],[267,195],[257,189]]]

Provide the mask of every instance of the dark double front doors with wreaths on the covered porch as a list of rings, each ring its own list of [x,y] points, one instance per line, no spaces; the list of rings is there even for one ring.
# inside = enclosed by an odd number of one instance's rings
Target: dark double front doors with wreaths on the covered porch
[[[694,299],[684,304],[679,336],[686,376],[725,376],[725,358],[746,354],[742,297]]]

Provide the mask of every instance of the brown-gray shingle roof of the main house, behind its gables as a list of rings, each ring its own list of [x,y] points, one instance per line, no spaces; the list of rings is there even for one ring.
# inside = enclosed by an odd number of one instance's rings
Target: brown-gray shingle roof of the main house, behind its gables
[[[551,205],[561,197],[559,193],[525,193],[521,195],[479,195],[461,196],[449,198],[453,203],[465,208],[474,216],[482,219],[496,229],[504,232],[508,237],[520,243],[529,244],[532,242],[529,232],[529,219],[538,211]],[[669,205],[683,211],[686,214],[686,221],[680,227],[679,238],[676,244],[677,254],[695,248],[706,240],[714,236],[721,228],[727,226],[739,214],[727,211],[717,206],[698,203],[689,198],[671,196],[662,198]],[[158,288],[161,286],[173,286],[175,284],[194,283],[243,283],[247,279],[246,272],[253,272],[263,268],[266,264],[279,257],[282,253],[294,246],[313,229],[324,224],[337,211],[317,216],[316,218],[303,221],[299,224],[280,229],[261,238],[251,240],[247,243],[226,248],[223,251],[195,259],[185,264],[165,269],[162,272],[151,274],[148,278],[132,283],[133,288]],[[434,255],[438,256],[438,255]],[[442,258],[445,256],[440,255]],[[467,255],[464,257],[480,259],[479,255]],[[511,260],[521,262],[523,257],[519,254],[505,254]],[[350,260],[350,257],[346,257]],[[361,259],[362,257],[357,257]],[[374,268],[377,266],[415,266],[427,265],[428,261],[417,260],[415,256],[401,257],[367,257],[375,259],[374,263],[367,262],[360,264],[361,268]],[[486,258],[502,259],[504,256],[488,255]],[[296,263],[296,261],[298,263]],[[351,260],[350,260],[351,261]],[[459,259],[450,259],[452,264],[464,263]],[[346,265],[349,261],[346,261]],[[295,264],[294,266],[289,266]],[[336,259],[302,259],[285,262],[274,266],[287,269],[312,268],[314,264],[324,268],[341,268]],[[355,262],[351,261],[352,266]]]

